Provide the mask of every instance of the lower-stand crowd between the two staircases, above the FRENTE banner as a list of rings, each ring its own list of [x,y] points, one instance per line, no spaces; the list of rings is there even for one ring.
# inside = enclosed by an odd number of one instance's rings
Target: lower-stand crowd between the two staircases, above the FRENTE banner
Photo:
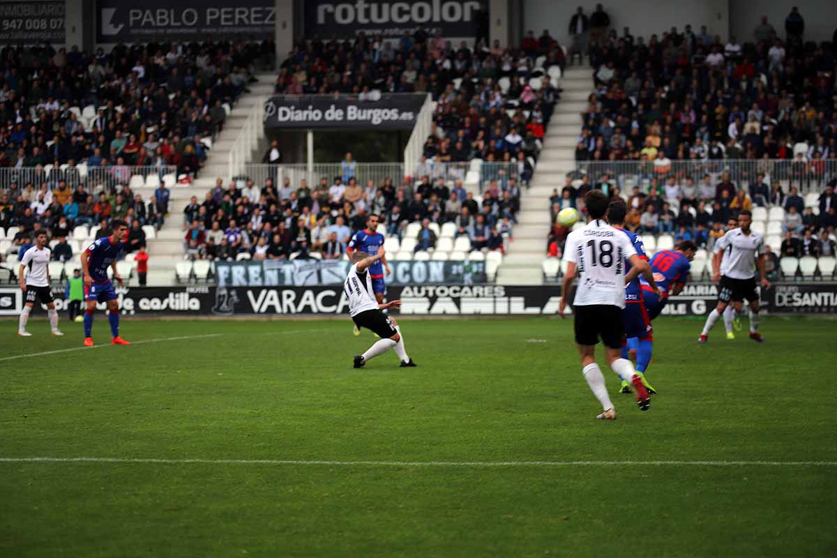
[[[337,259],[372,214],[388,236],[399,240],[407,238],[409,223],[419,223],[418,233],[410,233],[416,251],[434,248],[439,237],[435,225],[444,223],[454,223],[454,237],[468,236],[472,248],[502,250],[520,207],[516,177],[490,181],[480,197],[466,192],[461,181],[448,184],[427,175],[363,185],[353,176],[347,183],[343,178],[321,177],[313,187],[304,179],[291,184],[290,178],[278,187],[270,178],[261,186],[246,180],[224,187],[218,179],[203,200],[193,197],[183,209],[187,256],[236,259],[248,253],[252,259],[288,259],[314,254]]]

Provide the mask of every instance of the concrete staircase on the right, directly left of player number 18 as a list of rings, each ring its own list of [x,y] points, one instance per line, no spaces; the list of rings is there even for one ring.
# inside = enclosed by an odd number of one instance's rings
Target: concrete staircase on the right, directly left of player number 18
[[[575,166],[575,140],[581,131],[581,113],[593,92],[593,79],[587,66],[573,66],[557,84],[563,89],[555,105],[543,150],[537,161],[529,190],[521,197],[521,211],[514,228],[514,242],[497,272],[498,284],[542,284],[541,265],[547,253],[551,227],[549,197],[563,187],[567,172]]]

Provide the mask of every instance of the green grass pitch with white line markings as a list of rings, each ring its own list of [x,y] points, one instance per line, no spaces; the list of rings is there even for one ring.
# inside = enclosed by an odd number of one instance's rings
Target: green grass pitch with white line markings
[[[660,393],[616,422],[569,320],[405,319],[415,369],[353,370],[348,320],[124,320],[150,342],[8,359],[79,347],[62,325],[0,321],[3,556],[837,555],[834,320],[698,346],[660,319]]]

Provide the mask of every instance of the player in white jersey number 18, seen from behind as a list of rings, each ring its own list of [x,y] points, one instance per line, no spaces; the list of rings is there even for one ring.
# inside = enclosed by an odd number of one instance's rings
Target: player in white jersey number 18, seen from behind
[[[567,307],[567,294],[578,270],[578,286],[573,299],[575,314],[575,340],[581,356],[584,379],[590,390],[602,404],[603,412],[596,418],[614,420],[616,412],[604,386],[604,376],[595,360],[595,348],[601,338],[608,366],[624,381],[634,385],[639,408],[647,411],[650,396],[642,378],[628,359],[622,358],[624,324],[622,309],[625,306],[625,260],[648,281],[655,294],[662,296],[654,281],[648,263],[640,259],[628,236],[604,221],[608,198],[601,190],[592,190],[584,196],[590,223],[567,236],[561,303],[558,314],[562,317]]]

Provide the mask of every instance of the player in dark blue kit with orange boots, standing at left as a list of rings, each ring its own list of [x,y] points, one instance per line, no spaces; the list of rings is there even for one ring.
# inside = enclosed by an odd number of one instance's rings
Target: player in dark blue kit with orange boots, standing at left
[[[85,277],[85,346],[93,346],[90,332],[93,330],[93,314],[96,302],[106,302],[108,321],[110,322],[110,344],[131,345],[119,336],[119,303],[116,301],[116,290],[107,276],[108,266],[113,268],[113,278],[122,286],[122,278],[116,271],[116,262],[120,259],[126,243],[123,239],[128,231],[125,221],[115,219],[111,223],[113,232],[109,237],[102,237],[90,244],[81,253],[81,272]]]

